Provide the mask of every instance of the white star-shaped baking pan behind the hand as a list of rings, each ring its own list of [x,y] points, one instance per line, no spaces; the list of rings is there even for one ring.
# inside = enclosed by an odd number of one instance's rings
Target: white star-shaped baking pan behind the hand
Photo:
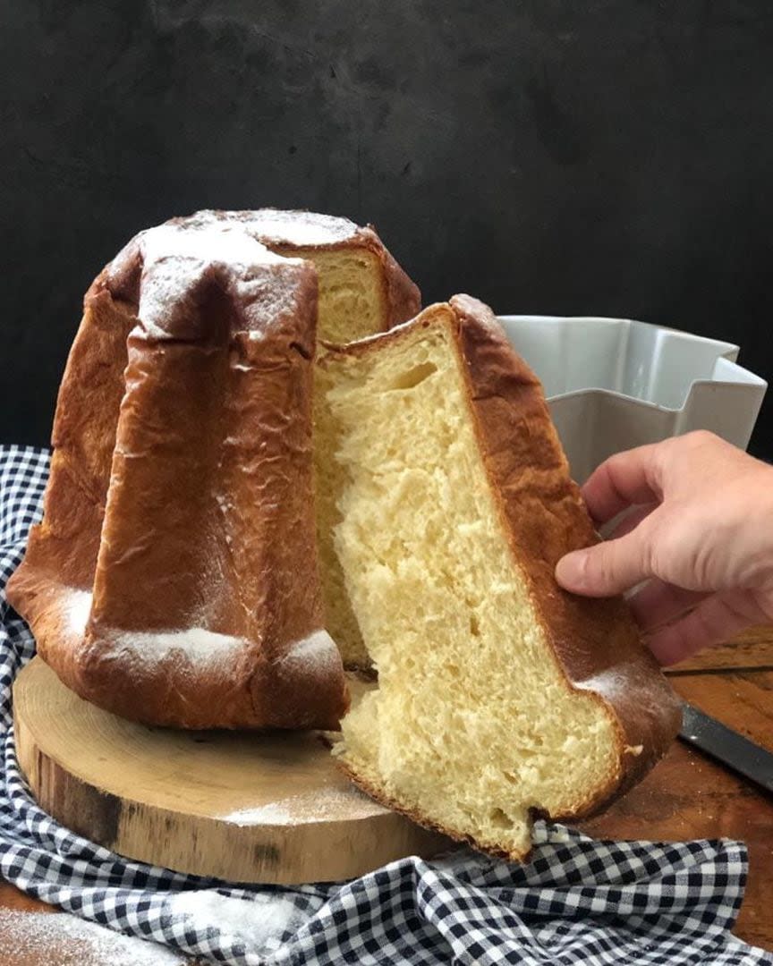
[[[694,429],[746,448],[767,383],[737,365],[738,346],[628,319],[500,321],[545,386],[579,483],[613,453]]]

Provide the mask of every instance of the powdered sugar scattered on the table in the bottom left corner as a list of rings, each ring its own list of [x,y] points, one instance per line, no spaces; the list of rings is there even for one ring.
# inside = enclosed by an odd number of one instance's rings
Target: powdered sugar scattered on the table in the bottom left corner
[[[40,962],[42,966],[65,961],[79,966],[178,966],[187,961],[181,952],[69,913],[0,912],[0,951],[2,962]]]

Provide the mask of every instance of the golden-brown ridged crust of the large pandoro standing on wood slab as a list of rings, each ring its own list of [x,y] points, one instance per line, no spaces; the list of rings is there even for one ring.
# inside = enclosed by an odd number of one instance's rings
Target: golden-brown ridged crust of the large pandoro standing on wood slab
[[[124,717],[334,727],[348,696],[314,545],[316,275],[268,266],[292,310],[248,332],[254,296],[207,270],[147,338],[125,300],[142,270],[129,256],[126,277],[103,272],[86,296],[43,523],[8,599],[62,680]],[[169,646],[180,632],[192,643]],[[224,659],[202,661],[217,642]]]

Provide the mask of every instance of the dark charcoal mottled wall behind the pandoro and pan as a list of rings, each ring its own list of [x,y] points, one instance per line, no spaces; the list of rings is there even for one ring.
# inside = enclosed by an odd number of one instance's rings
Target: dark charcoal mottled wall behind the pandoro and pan
[[[48,439],[101,266],[205,207],[372,221],[425,300],[685,328],[773,377],[769,0],[0,11],[0,441]]]

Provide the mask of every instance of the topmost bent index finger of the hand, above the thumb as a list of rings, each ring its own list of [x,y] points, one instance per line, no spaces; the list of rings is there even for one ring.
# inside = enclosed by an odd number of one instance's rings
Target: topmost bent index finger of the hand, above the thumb
[[[605,524],[633,503],[658,503],[662,497],[660,461],[655,444],[617,453],[591,473],[583,487],[590,516]]]

